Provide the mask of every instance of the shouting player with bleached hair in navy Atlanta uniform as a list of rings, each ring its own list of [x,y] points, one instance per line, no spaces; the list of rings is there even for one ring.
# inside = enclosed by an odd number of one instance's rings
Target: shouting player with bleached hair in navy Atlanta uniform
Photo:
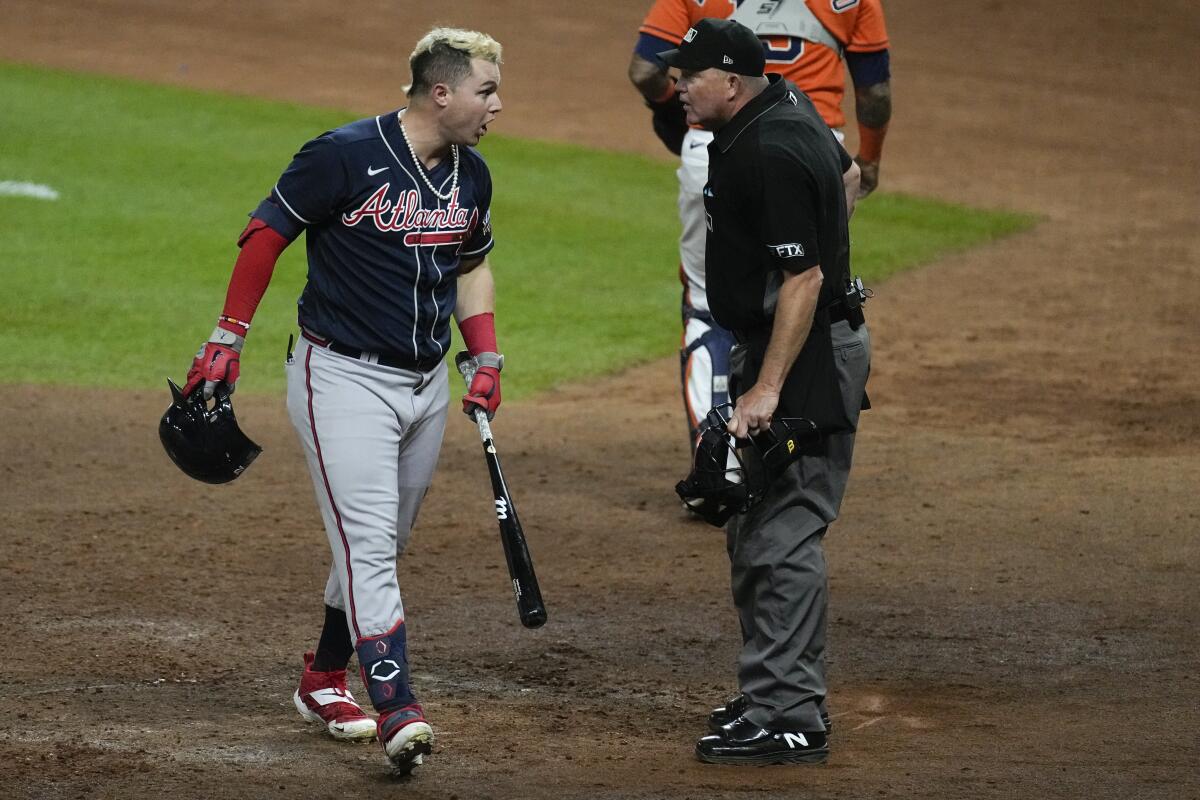
[[[430,486],[449,401],[450,317],[479,363],[462,404],[500,404],[488,207],[472,149],[500,112],[500,46],[438,28],[409,59],[408,107],[312,139],[238,240],[224,309],[185,391],[238,380],[239,354],[280,253],[306,234],[288,411],[332,552],[325,622],[294,696],[337,739],[378,736],[398,772],[433,732],[409,685],[396,559]],[[378,720],[346,688],[356,652]]]

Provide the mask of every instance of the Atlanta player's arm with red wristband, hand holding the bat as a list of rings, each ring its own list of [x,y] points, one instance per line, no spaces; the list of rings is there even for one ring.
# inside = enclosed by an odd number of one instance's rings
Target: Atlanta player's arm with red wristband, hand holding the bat
[[[487,411],[487,419],[492,419],[500,407],[504,359],[496,344],[496,281],[486,255],[458,264],[458,299],[454,315],[467,353],[479,365],[462,398],[462,410],[470,416],[481,408]]]

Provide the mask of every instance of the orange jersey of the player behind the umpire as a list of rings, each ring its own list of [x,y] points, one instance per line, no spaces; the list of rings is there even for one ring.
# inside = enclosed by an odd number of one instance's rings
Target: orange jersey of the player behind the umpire
[[[758,0],[746,0],[757,2]],[[880,0],[804,0],[821,24],[853,53],[888,48],[888,31]],[[678,44],[688,29],[706,17],[728,18],[738,0],[655,0],[640,32]],[[841,98],[846,79],[841,59],[824,44],[790,36],[764,37],[767,72],[779,72],[799,86],[829,125],[846,124]]]

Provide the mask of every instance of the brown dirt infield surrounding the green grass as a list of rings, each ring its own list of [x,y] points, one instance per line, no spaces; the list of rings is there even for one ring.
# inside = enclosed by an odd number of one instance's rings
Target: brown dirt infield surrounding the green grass
[[[470,24],[506,46],[498,131],[658,152],[624,77],[647,0],[403,5],[7,0],[0,52],[373,112],[419,32]],[[0,385],[0,794],[1200,798],[1200,10],[1142,5],[888,6],[884,190],[1044,222],[869,307],[827,766],[691,759],[737,632],[721,537],[672,501],[667,359],[502,411],[536,632],[452,420],[401,569],[439,735],[403,784],[290,705],[329,557],[282,398],[244,397],[266,452],[208,488],[162,456],[163,392]]]

